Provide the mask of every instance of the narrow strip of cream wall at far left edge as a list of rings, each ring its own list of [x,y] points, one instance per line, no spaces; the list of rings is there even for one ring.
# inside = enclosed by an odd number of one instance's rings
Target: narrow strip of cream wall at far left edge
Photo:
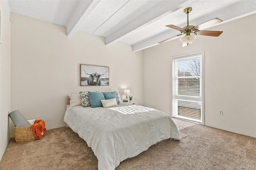
[[[0,44],[0,160],[10,139],[8,114],[11,109],[11,54],[10,21],[4,6],[1,9],[1,43]]]

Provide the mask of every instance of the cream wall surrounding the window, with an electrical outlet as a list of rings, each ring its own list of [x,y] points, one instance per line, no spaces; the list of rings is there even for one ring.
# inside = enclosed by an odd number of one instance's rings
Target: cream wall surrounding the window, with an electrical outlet
[[[256,137],[256,14],[209,30],[223,33],[144,50],[144,105],[170,115],[171,57],[204,50],[205,125]]]

